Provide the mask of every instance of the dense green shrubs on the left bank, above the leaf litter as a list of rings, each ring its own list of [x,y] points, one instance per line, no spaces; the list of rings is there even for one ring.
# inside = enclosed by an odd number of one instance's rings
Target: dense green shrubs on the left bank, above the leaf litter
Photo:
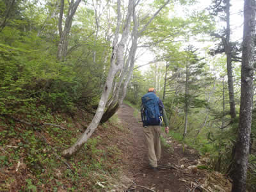
[[[35,38],[29,42],[42,42]],[[85,68],[76,71],[76,66],[58,63],[42,49],[27,49],[29,42],[20,42],[20,47],[0,44],[1,114],[28,113],[28,108],[35,111],[38,106],[73,113],[77,104],[86,105],[99,93],[92,83],[98,77],[91,77]]]

